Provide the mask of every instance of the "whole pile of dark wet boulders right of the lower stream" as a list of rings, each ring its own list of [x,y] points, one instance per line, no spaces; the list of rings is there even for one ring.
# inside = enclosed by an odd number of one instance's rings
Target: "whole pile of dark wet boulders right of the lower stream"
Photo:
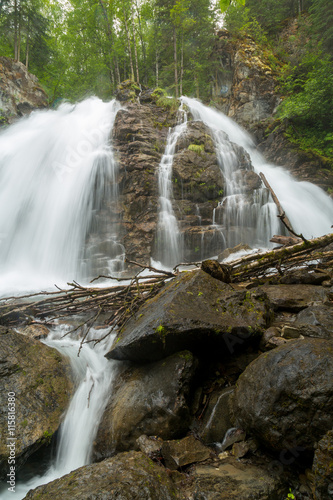
[[[123,368],[95,463],[26,498],[331,498],[332,270],[253,287],[203,269],[167,282],[115,338],[107,357]],[[1,338],[44,352],[18,333]],[[23,377],[14,361],[6,374]]]

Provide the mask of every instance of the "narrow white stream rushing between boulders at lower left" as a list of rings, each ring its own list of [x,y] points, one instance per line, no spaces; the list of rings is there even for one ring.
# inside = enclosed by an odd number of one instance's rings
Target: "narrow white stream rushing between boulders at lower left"
[[[3,500],[21,500],[30,489],[49,483],[90,462],[98,425],[121,363],[104,357],[111,347],[114,335],[95,347],[94,343],[84,344],[78,357],[80,340],[62,338],[68,329],[68,326],[59,326],[45,340],[45,344],[56,348],[70,359],[76,385],[75,394],[60,427],[56,458],[43,476],[35,476],[26,483],[17,482],[15,493],[9,492],[7,488],[0,490]],[[106,333],[105,329],[91,329],[87,340],[102,338]]]

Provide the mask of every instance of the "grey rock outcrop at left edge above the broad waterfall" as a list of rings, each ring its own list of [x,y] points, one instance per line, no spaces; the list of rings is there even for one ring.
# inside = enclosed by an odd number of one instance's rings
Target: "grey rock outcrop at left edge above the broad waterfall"
[[[0,125],[46,106],[46,93],[24,64],[0,57]]]

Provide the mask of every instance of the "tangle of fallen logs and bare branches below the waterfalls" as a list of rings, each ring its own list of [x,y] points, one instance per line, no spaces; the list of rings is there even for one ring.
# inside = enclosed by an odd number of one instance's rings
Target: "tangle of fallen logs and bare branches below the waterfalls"
[[[231,284],[264,280],[277,273],[281,275],[293,267],[326,269],[332,267],[333,250],[328,247],[331,243],[333,243],[333,233],[228,262]],[[100,321],[99,318],[103,314],[106,316],[106,319],[103,316],[103,324],[110,327],[106,334],[109,335],[115,328],[122,327],[142,304],[154,297],[166,282],[179,273],[179,265],[172,272],[168,272],[136,262],[128,261],[128,263],[149,270],[151,274],[143,276],[140,270],[132,279],[103,276],[117,281],[116,285],[103,288],[82,286],[73,282],[68,283],[68,289],[58,288],[51,292],[42,291],[24,296],[5,297],[0,300],[0,324],[15,326],[39,322],[52,325],[59,318],[82,315],[82,323],[71,330],[73,332],[83,329],[82,345],[89,330]],[[197,265],[198,263],[195,263],[193,267]]]

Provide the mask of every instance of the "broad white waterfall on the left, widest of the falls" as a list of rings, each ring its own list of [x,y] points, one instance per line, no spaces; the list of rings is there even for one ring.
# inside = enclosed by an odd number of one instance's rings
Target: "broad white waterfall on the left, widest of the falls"
[[[34,112],[1,132],[2,288],[40,289],[122,269],[110,144],[119,109],[90,98]]]

